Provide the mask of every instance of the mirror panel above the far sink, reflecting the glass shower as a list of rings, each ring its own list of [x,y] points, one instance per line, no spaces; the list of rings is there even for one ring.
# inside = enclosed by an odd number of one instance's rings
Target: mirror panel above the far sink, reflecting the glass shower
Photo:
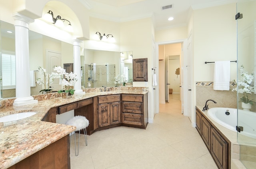
[[[81,65],[82,87],[114,87],[120,76],[120,52],[84,49]]]

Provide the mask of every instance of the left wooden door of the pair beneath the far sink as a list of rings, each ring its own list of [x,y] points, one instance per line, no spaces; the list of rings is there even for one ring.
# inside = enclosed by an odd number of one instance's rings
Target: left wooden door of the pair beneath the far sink
[[[110,104],[103,103],[98,105],[99,127],[110,125]]]

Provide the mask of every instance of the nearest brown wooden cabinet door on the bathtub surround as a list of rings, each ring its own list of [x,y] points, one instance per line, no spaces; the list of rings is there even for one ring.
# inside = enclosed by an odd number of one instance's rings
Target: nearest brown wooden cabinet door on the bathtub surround
[[[214,129],[211,129],[211,153],[219,169],[228,168],[228,143]]]

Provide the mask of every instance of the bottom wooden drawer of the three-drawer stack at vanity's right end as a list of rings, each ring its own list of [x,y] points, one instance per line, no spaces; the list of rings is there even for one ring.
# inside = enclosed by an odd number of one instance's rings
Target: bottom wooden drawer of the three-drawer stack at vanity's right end
[[[122,123],[131,125],[144,125],[144,115],[122,113]]]

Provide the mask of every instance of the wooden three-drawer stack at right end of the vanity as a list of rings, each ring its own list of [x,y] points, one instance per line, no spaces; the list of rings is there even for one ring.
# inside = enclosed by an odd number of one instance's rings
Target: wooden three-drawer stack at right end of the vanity
[[[122,94],[122,123],[146,129],[148,125],[148,95]]]

